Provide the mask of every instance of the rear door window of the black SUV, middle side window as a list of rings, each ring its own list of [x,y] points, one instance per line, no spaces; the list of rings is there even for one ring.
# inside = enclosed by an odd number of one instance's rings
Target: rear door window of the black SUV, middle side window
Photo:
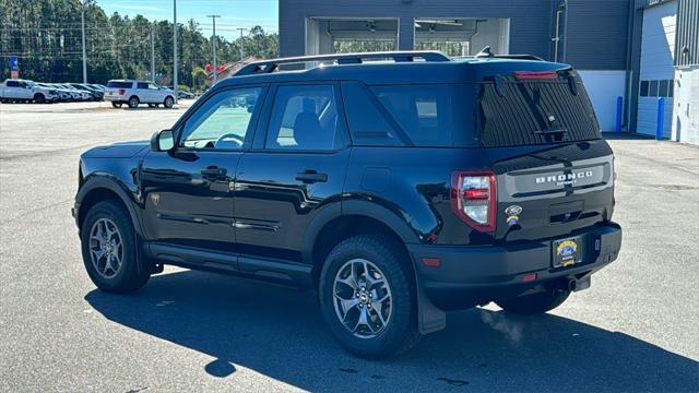
[[[266,148],[331,151],[341,143],[335,86],[277,88]]]

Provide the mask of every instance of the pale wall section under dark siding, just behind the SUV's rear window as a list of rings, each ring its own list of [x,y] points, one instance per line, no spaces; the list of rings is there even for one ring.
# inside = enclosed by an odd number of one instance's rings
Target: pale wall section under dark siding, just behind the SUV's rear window
[[[624,97],[626,78],[624,70],[578,70],[588,90],[590,100],[604,132],[614,131],[616,124],[616,97]],[[626,103],[624,103],[626,105]]]

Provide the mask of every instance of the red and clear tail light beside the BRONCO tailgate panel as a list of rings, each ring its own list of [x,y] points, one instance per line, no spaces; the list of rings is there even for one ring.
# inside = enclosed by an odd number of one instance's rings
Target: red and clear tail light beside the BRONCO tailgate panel
[[[497,194],[491,171],[459,171],[451,176],[451,209],[474,229],[495,230]]]

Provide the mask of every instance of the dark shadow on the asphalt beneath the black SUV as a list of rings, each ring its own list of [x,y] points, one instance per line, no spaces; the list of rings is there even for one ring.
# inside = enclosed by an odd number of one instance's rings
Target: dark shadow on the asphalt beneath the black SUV
[[[108,320],[305,390],[696,391],[698,362],[556,315],[475,309],[404,356],[370,361],[342,350],[311,291],[202,272],[153,276],[138,294],[85,296]],[[609,310],[614,312],[614,310]]]

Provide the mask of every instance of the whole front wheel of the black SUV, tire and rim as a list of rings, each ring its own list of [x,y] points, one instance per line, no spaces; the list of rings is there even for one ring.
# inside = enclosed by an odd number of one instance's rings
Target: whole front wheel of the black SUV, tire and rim
[[[100,234],[103,239],[109,234],[108,239],[114,240],[111,247],[100,246],[104,243],[97,240]],[[85,270],[97,288],[107,293],[128,294],[147,283],[151,274],[145,266],[139,266],[139,240],[133,224],[125,209],[116,202],[99,202],[87,212],[80,240]],[[103,257],[97,258],[99,253]],[[114,257],[109,258],[109,254]]]

